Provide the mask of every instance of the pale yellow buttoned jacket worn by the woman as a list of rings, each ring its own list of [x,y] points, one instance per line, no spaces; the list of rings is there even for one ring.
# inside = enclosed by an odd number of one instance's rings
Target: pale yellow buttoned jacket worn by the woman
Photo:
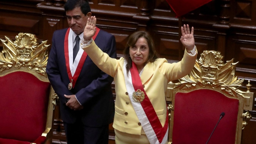
[[[116,102],[113,127],[118,131],[130,134],[145,134],[127,95],[123,73],[123,70],[126,70],[124,69],[124,58],[119,60],[110,58],[107,53],[98,48],[94,41],[83,50],[102,71],[114,77]],[[167,84],[169,81],[188,75],[194,67],[196,55],[191,56],[185,51],[183,59],[177,63],[171,64],[166,59],[159,58],[152,63],[147,63],[144,67],[140,79],[162,126],[166,120]]]

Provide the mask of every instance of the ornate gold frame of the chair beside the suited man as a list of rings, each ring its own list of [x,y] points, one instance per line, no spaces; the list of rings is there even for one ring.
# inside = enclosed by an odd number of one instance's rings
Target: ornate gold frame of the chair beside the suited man
[[[27,72],[36,76],[42,82],[49,82],[46,75],[46,64],[48,60],[47,41],[38,43],[37,38],[33,34],[19,33],[16,41],[12,41],[5,36],[3,43],[3,51],[0,52],[0,76],[5,76],[13,72]],[[25,83],[24,83],[25,84]],[[52,143],[52,124],[53,110],[56,105],[58,96],[54,94],[52,86],[50,87],[47,122],[45,131],[42,136],[46,137],[44,143]]]

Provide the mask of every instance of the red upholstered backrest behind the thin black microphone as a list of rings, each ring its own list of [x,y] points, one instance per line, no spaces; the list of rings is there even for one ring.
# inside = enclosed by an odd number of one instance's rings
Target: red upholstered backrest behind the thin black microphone
[[[208,144],[234,144],[239,100],[228,98],[213,90],[195,90],[175,95],[173,144],[205,144],[221,112],[220,120]]]

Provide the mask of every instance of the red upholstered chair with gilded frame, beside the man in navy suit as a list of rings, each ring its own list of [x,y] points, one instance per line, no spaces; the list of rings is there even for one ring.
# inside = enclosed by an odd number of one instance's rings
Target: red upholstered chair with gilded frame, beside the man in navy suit
[[[1,39],[0,144],[51,144],[54,91],[45,69],[46,41],[20,33]]]

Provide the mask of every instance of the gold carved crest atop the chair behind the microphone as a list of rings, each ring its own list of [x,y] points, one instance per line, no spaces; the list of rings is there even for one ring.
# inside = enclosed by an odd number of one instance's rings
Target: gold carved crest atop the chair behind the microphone
[[[193,89],[198,84],[202,87],[221,88],[225,93],[237,97],[237,94],[244,97],[244,93],[238,88],[242,85],[244,79],[238,79],[235,76],[236,63],[234,59],[224,64],[223,56],[220,52],[204,51],[191,73],[176,83],[175,87],[180,90]]]

